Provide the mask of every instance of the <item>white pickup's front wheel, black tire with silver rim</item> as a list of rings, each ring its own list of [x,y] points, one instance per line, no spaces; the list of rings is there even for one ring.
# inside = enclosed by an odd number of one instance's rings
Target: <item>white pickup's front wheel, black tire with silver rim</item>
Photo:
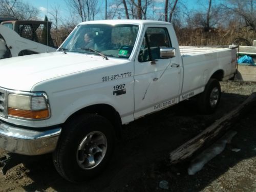
[[[102,116],[82,114],[65,124],[53,163],[57,172],[73,183],[89,180],[108,163],[114,148],[114,129]]]

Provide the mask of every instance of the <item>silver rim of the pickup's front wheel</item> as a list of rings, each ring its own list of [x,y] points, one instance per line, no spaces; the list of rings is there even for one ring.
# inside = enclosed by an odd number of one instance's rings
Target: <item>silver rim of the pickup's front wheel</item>
[[[92,169],[100,164],[106,154],[107,140],[103,133],[95,131],[87,134],[79,143],[76,153],[78,165]]]

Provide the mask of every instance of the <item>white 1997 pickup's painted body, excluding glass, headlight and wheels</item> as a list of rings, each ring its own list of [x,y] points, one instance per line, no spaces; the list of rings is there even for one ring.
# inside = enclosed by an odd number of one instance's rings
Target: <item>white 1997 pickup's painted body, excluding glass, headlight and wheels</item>
[[[0,147],[26,155],[52,152],[62,132],[61,127],[81,110],[91,109],[91,106],[108,106],[118,114],[116,117],[120,118],[120,124],[125,124],[204,92],[210,78],[225,80],[236,72],[235,49],[193,48],[195,51],[189,53],[188,47],[179,47],[175,31],[169,23],[152,20],[104,20],[80,25],[101,24],[138,27],[129,57],[108,56],[105,59],[95,53],[59,50],[0,61],[0,93],[3,98],[2,114],[0,111]],[[139,61],[148,28],[163,28],[168,32],[172,48],[175,48],[174,57]],[[75,30],[67,39],[73,38],[74,33]],[[62,47],[66,45],[65,42]],[[123,52],[127,53],[125,50]],[[47,95],[50,111],[48,118],[34,120],[8,114],[8,94],[27,92],[44,92]],[[54,137],[55,141],[52,142],[52,147],[42,146],[44,150],[36,148],[25,153],[24,147],[17,150],[17,145],[10,147],[6,142],[10,137],[6,136],[9,133],[7,123],[12,125],[12,132],[23,126],[30,127],[29,130],[38,134],[37,130],[43,127],[53,127],[54,132],[50,137]],[[48,128],[47,131],[53,128]],[[26,128],[23,129],[23,134],[27,134]],[[15,134],[12,137],[15,138]],[[45,140],[49,138],[44,137]],[[49,142],[46,143],[49,145]]]

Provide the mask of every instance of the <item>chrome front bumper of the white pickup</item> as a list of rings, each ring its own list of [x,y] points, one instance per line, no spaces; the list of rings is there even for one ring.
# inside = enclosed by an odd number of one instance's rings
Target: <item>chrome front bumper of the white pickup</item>
[[[47,131],[25,130],[0,120],[0,148],[23,155],[41,155],[53,152],[61,127]]]

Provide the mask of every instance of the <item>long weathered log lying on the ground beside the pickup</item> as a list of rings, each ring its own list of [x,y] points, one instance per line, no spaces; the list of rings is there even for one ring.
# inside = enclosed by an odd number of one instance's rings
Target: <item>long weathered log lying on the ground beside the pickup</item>
[[[200,148],[207,147],[212,144],[218,136],[225,133],[234,122],[238,121],[238,117],[245,114],[250,110],[256,101],[256,92],[253,92],[243,103],[237,108],[226,114],[222,118],[216,120],[213,124],[208,126],[202,133],[196,137],[190,139],[176,150],[170,153],[170,163],[176,164],[185,160],[195,152],[198,152]]]

